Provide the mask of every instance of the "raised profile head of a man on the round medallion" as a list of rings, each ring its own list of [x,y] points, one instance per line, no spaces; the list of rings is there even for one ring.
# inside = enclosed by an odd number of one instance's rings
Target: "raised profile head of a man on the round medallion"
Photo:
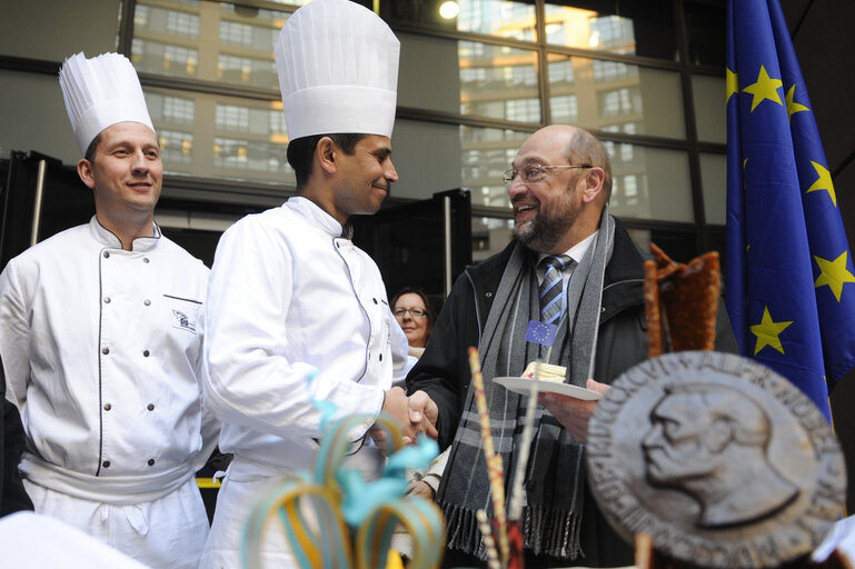
[[[642,440],[647,480],[693,497],[700,506],[698,526],[769,516],[796,497],[798,488],[766,456],[772,422],[754,399],[714,383],[664,390]]]

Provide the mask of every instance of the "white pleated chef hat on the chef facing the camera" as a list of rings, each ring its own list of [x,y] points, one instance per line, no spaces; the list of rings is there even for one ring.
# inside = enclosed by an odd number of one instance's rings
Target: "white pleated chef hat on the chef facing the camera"
[[[141,122],[155,130],[137,71],[125,56],[86,59],[82,52],[76,53],[59,70],[59,86],[83,154],[99,132],[117,122]]]

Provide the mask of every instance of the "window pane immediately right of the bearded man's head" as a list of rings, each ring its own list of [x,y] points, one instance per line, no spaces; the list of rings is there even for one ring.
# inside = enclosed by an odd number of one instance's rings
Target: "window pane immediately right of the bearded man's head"
[[[626,142],[603,142],[612,159],[615,216],[694,221],[688,154]]]

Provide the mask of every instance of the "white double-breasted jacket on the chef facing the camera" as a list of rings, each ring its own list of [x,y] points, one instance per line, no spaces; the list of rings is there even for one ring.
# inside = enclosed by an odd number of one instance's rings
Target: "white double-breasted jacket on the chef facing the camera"
[[[133,505],[192,479],[218,430],[197,373],[208,272],[157,226],[125,251],[96,217],[9,261],[0,353],[27,480]]]

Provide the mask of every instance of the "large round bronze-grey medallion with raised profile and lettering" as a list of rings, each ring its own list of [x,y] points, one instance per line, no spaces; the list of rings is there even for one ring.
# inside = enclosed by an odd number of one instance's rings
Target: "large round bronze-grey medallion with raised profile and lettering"
[[[590,419],[587,466],[618,531],[700,567],[807,555],[846,495],[843,452],[816,406],[769,368],[713,351],[623,373]]]

